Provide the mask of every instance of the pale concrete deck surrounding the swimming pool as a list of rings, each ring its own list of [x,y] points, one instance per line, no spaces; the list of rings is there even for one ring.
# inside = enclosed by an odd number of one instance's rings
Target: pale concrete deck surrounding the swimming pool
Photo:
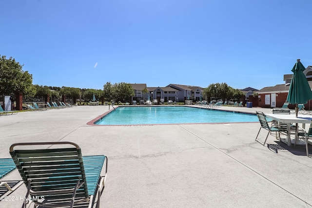
[[[270,135],[255,142],[256,123],[90,126],[108,106],[78,106],[0,116],[0,157],[16,142],[76,142],[83,155],[105,154],[101,207],[312,207],[312,158]],[[271,113],[271,109],[220,110]],[[139,118],[138,118],[139,119]],[[261,130],[260,139],[267,131]],[[312,151],[311,151],[312,152]],[[17,170],[2,180],[19,180]],[[10,196],[24,196],[21,186]],[[1,201],[16,208],[21,200]]]

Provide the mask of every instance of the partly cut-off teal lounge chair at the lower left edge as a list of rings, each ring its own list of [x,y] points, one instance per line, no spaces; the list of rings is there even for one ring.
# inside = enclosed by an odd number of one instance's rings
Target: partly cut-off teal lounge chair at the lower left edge
[[[1,158],[0,159],[0,199],[8,195],[10,192],[19,188],[23,182],[22,181],[3,181],[5,175],[9,174],[16,169],[14,161],[12,158]]]

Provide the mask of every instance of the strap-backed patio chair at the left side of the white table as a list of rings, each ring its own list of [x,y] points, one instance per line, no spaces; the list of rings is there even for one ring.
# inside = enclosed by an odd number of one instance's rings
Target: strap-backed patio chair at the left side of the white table
[[[277,139],[277,132],[278,132],[279,137],[280,137],[280,132],[283,132],[283,133],[288,134],[287,129],[281,128],[281,127],[279,127],[277,124],[276,124],[276,125],[273,124],[272,126],[269,126],[268,121],[267,121],[266,116],[265,116],[264,113],[262,113],[262,112],[260,112],[260,111],[256,111],[256,114],[257,114],[257,116],[258,116],[258,119],[259,119],[259,122],[260,122],[261,127],[260,127],[260,129],[259,129],[259,132],[258,132],[257,136],[255,137],[255,140],[256,140],[257,142],[259,142],[260,144],[262,144],[263,146],[265,145],[265,143],[266,143],[266,141],[267,141],[267,139],[268,139],[268,136],[269,136],[269,134],[270,134],[271,132],[275,132],[275,137],[276,137],[276,139]],[[260,140],[258,140],[258,135],[259,135],[261,129],[265,129],[265,130],[268,130],[268,131],[269,131],[268,134],[267,134],[267,137],[266,137],[265,140],[264,140],[264,142],[261,142]]]

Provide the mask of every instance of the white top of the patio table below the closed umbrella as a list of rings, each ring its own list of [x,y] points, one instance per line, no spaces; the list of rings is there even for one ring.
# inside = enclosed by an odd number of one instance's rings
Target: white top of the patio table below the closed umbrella
[[[277,120],[283,123],[311,123],[312,115],[302,115],[298,114],[296,117],[295,114],[277,114],[277,113],[268,113],[265,114],[267,117]]]

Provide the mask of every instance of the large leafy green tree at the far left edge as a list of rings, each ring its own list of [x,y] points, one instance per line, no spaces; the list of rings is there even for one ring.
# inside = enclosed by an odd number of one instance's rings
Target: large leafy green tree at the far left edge
[[[33,76],[22,70],[23,65],[14,58],[9,59],[0,55],[0,95],[14,95],[34,93]]]

